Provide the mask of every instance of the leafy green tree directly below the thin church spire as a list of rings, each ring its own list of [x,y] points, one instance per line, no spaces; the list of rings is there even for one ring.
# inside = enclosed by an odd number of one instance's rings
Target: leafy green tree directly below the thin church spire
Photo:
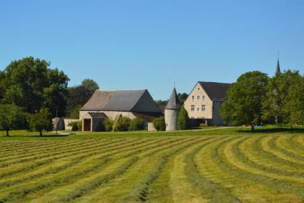
[[[266,96],[263,99],[263,119],[269,123],[288,123],[288,113],[284,110],[290,86],[301,80],[298,71],[287,70],[269,79]]]

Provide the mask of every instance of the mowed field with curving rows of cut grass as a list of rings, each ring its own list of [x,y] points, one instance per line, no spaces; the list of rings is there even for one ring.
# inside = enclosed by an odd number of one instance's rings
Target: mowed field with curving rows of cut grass
[[[0,202],[303,202],[304,135],[0,141]]]

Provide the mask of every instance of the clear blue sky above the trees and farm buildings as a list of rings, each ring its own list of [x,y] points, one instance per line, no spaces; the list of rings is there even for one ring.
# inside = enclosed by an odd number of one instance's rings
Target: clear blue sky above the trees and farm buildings
[[[304,72],[304,1],[0,2],[0,70],[27,56],[101,89],[149,89],[167,99],[175,81],[233,82],[243,72]]]

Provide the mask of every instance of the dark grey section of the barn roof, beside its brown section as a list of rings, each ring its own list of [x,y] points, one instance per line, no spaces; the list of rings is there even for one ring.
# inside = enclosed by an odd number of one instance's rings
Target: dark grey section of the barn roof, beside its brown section
[[[102,110],[131,111],[146,90],[119,90]]]

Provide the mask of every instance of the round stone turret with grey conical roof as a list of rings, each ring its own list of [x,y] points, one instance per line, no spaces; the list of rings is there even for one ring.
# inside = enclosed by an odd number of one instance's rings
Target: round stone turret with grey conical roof
[[[166,122],[166,131],[178,130],[178,94],[175,88],[164,109],[164,121]]]

